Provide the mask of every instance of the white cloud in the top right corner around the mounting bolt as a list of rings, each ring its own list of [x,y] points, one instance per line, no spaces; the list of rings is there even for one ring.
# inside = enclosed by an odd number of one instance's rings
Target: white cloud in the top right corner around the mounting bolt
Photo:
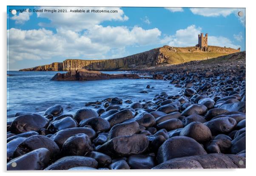
[[[190,8],[191,12],[202,16],[229,16],[235,14],[239,21],[245,26],[245,8]],[[238,16],[238,12],[242,11],[243,16]]]

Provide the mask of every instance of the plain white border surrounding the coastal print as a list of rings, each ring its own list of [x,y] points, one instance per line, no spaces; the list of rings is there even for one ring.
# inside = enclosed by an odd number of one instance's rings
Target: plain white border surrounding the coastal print
[[[1,171],[4,172],[3,175],[12,175],[12,176],[46,176],[46,174],[68,176],[71,174],[77,175],[122,175],[126,176],[140,174],[143,176],[155,176],[155,175],[189,175],[189,176],[216,176],[216,175],[229,175],[229,176],[245,176],[251,175],[255,170],[255,153],[256,153],[256,143],[255,143],[255,131],[256,129],[256,46],[253,41],[256,41],[255,34],[255,11],[256,7],[252,3],[253,1],[245,0],[212,0],[212,1],[203,1],[203,0],[69,0],[69,1],[60,1],[60,0],[1,0]],[[246,158],[246,169],[216,169],[216,170],[101,170],[98,172],[87,171],[85,172],[76,172],[71,173],[67,171],[31,171],[31,172],[6,172],[6,5],[47,5],[47,6],[148,6],[148,7],[239,7],[246,8],[246,80],[247,80],[247,158]],[[29,163],[28,163],[29,164]],[[253,173],[254,175],[255,173]]]

